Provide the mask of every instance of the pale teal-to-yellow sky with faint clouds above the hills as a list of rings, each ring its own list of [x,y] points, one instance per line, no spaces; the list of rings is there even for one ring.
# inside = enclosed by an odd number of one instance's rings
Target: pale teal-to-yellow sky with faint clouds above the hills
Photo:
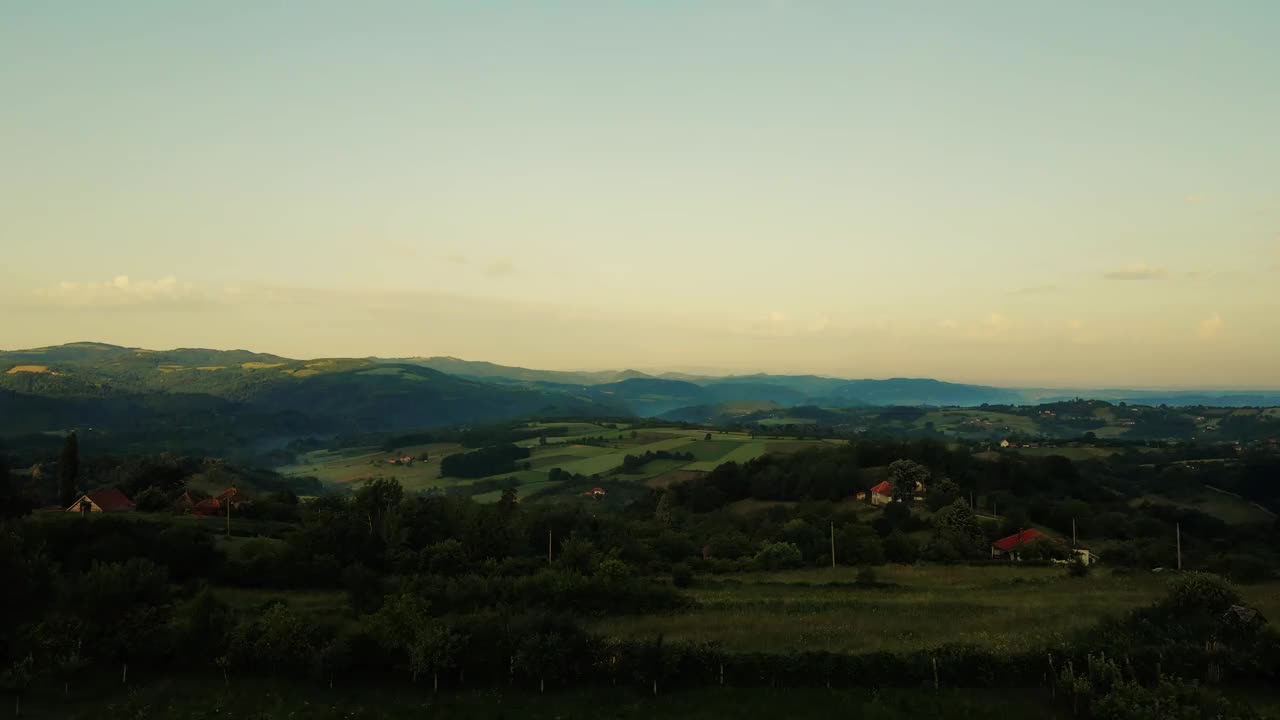
[[[0,348],[1280,387],[1270,0],[0,17]]]

